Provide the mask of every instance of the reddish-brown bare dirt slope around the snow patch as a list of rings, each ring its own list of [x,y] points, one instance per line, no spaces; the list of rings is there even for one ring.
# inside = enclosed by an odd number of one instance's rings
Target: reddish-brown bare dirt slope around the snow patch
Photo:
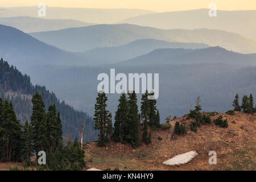
[[[220,114],[211,117],[216,119]],[[197,133],[189,129],[191,120],[187,116],[170,122],[171,129],[152,132],[152,143],[139,148],[130,144],[109,142],[106,147],[97,147],[96,142],[85,144],[88,168],[119,170],[255,170],[256,167],[256,115],[236,112],[236,115],[221,114],[228,118],[228,128],[212,124],[197,128]],[[176,121],[185,122],[187,134],[171,139]],[[163,138],[159,140],[158,137]],[[162,164],[176,155],[196,150],[191,162],[180,166]],[[217,164],[210,165],[210,151],[217,153]]]

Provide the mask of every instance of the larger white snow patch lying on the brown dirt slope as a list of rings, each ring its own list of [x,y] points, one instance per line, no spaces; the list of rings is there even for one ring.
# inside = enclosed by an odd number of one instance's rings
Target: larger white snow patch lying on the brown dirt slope
[[[164,165],[168,166],[173,166],[173,165],[178,165],[178,164],[185,164],[191,161],[195,156],[198,155],[195,150],[190,151],[190,152],[185,152],[180,155],[176,155],[173,158],[166,160],[163,162]]]

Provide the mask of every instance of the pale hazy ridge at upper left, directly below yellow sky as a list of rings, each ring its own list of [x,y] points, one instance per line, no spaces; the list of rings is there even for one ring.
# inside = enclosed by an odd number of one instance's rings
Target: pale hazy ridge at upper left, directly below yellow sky
[[[38,6],[2,7],[0,17],[31,16],[38,18]],[[89,23],[114,23],[132,16],[154,13],[139,9],[90,9],[46,6],[47,19],[73,19]]]

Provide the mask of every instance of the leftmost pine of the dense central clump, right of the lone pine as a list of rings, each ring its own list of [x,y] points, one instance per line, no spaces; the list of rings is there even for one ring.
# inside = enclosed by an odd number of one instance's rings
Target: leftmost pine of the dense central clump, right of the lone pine
[[[129,131],[129,126],[127,125],[128,104],[126,94],[122,93],[118,101],[119,104],[117,111],[115,111],[114,133],[112,138],[115,142],[123,142],[123,136]]]

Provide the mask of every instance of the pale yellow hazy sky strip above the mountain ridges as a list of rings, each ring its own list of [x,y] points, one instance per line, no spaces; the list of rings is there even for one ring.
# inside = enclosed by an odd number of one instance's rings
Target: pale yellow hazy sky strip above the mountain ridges
[[[208,8],[212,2],[219,10],[256,9],[256,0],[0,0],[0,6],[35,6],[41,2],[57,7],[126,8],[158,12]]]

